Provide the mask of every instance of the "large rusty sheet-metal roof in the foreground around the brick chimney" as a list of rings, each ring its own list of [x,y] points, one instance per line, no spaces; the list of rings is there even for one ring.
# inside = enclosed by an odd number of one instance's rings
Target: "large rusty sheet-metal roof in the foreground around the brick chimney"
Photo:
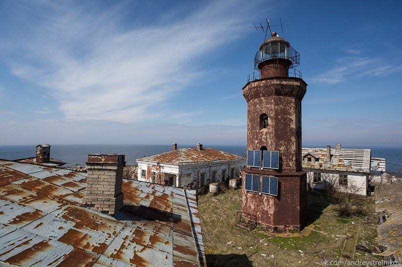
[[[115,217],[80,206],[86,173],[0,160],[0,265],[205,265],[194,190],[123,180]]]

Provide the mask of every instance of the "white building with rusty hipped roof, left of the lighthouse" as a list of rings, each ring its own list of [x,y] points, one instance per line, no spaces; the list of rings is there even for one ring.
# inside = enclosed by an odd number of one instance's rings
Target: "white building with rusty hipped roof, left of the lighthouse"
[[[138,180],[152,183],[199,188],[211,182],[239,178],[246,158],[197,144],[194,148],[177,149],[137,159]]]

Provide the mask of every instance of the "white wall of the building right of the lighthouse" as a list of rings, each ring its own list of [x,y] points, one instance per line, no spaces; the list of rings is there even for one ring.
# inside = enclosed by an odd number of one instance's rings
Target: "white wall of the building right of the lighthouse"
[[[344,171],[329,171],[325,170],[306,170],[307,173],[307,182],[308,185],[313,189],[323,189],[331,184],[335,185],[335,187],[344,192],[349,192],[350,190],[357,190],[356,194],[358,195],[367,195],[368,189],[368,174],[367,173],[358,173],[358,172],[344,172]],[[321,173],[321,181],[317,182],[317,179],[314,179],[314,173]],[[339,184],[340,176],[347,176],[346,184]],[[346,177],[343,177],[346,178]],[[349,188],[350,190],[348,190]]]

